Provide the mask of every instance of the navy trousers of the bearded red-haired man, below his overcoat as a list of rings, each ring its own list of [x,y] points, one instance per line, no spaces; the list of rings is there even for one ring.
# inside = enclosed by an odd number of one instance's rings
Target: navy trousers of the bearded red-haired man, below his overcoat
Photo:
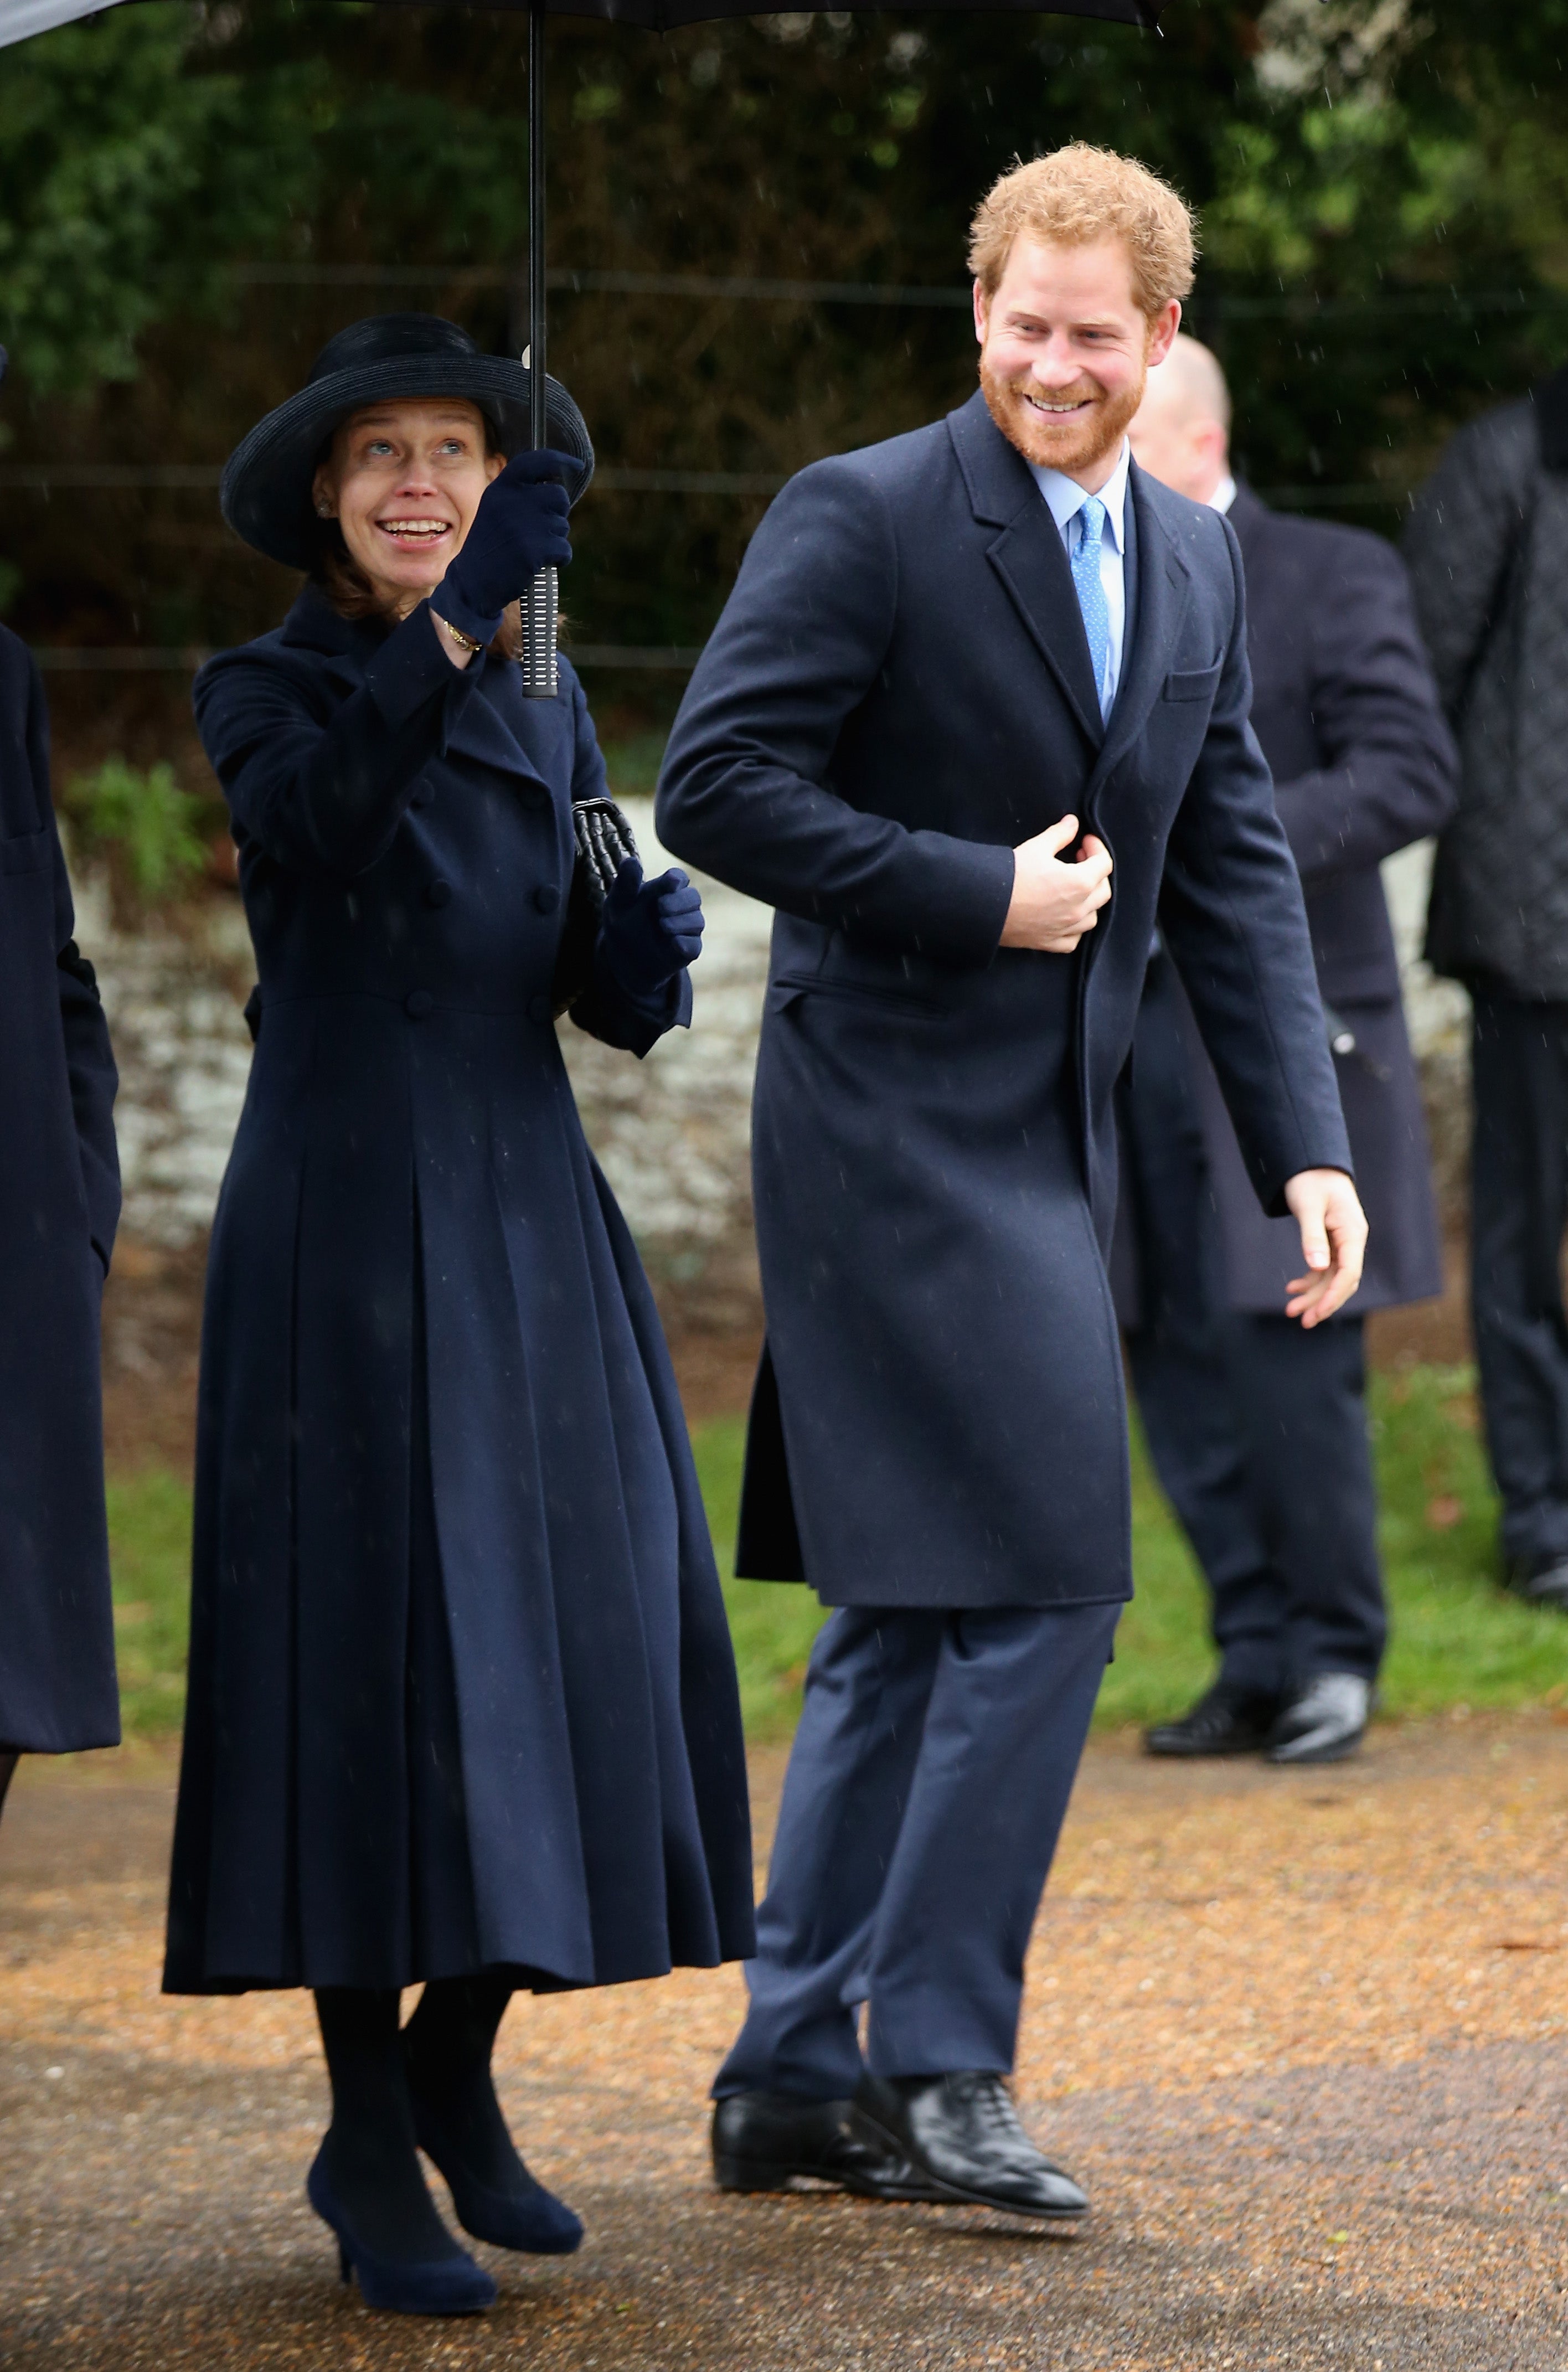
[[[714,2097],[844,2099],[866,2066],[1013,2066],[1030,1931],[1120,1613],[828,1618],[747,1962],[752,2002]]]

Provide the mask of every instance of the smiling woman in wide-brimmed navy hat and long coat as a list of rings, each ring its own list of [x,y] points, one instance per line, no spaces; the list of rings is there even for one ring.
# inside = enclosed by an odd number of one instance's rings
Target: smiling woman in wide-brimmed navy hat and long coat
[[[548,396],[562,451],[522,453],[522,365],[429,315],[339,332],[223,474],[230,527],[311,581],[197,678],[259,991],[164,1983],[315,1990],[311,2204],[344,2277],[410,2313],[496,2294],[415,2144],[467,2232],[581,2237],[496,2102],[510,1992],[752,1947],[702,1499],[555,1044],[572,802],[605,764],[572,669],[527,700],[508,655],[593,470]],[[700,930],[686,875],[624,866],[576,1025],[645,1053],[686,1022]]]

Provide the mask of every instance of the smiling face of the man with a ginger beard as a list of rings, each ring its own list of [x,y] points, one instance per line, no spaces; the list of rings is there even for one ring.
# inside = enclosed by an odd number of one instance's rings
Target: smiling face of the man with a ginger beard
[[[1122,240],[1013,240],[996,294],[987,299],[975,282],[980,387],[992,420],[1025,460],[1096,493],[1179,320],[1174,299],[1153,320],[1143,313]]]

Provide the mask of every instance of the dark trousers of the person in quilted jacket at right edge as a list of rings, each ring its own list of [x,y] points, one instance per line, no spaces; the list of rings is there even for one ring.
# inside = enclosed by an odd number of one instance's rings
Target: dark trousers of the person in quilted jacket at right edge
[[[1475,996],[1471,1319],[1509,1556],[1568,1558],[1568,1003]]]

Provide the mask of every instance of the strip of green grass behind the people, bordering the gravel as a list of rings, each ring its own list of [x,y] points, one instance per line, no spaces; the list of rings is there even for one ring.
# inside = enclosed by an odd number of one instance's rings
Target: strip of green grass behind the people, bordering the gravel
[[[1494,1584],[1497,1506],[1475,1428],[1468,1369],[1419,1366],[1373,1378],[1383,1490],[1383,1556],[1392,1649],[1388,1713],[1449,1705],[1528,1705],[1568,1696],[1568,1622],[1532,1613]],[[697,1473],[726,1575],[724,1594],[752,1739],[783,1739],[823,1613],[807,1589],[728,1577],[745,1426],[721,1418],[695,1435]],[[185,1660],[190,1492],[147,1468],[109,1485],[116,1634],[126,1732],[178,1727]],[[1203,1584],[1148,1459],[1134,1442],[1134,1570],[1117,1660],[1096,1722],[1148,1722],[1181,1710],[1212,1670]]]

